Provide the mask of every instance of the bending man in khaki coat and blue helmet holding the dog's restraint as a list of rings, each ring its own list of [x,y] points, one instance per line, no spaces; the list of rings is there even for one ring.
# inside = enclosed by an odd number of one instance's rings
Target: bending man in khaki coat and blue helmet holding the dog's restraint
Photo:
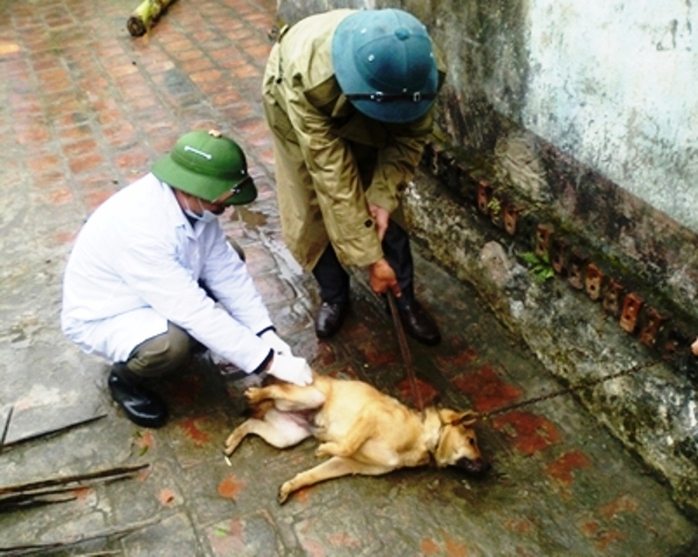
[[[434,345],[435,322],[415,299],[406,232],[390,218],[432,128],[441,85],[432,42],[407,12],[334,10],[284,28],[263,96],[273,132],[284,239],[320,285],[319,337],[341,327],[349,266],[398,297],[407,332]]]

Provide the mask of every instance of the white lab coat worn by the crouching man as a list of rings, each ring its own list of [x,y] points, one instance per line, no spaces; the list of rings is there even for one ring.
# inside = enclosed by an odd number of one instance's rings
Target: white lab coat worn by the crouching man
[[[256,336],[272,325],[269,313],[218,222],[192,227],[172,189],[147,174],[80,231],[63,280],[61,327],[85,352],[123,362],[168,321],[248,373],[269,355]]]

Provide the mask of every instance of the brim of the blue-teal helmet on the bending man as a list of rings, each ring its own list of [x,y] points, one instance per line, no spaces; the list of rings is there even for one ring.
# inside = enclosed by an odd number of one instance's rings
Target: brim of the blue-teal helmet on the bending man
[[[343,19],[335,29],[332,37],[332,66],[339,87],[345,93],[351,94],[375,94],[373,89],[359,73],[354,62],[353,49],[350,48],[352,37],[357,28],[369,18],[375,17],[370,10],[362,10],[353,13]],[[434,65],[429,74],[425,88],[429,91],[437,91],[439,72]],[[389,124],[406,124],[424,116],[434,104],[433,99],[390,100],[378,102],[374,100],[349,99],[349,102],[369,118]]]

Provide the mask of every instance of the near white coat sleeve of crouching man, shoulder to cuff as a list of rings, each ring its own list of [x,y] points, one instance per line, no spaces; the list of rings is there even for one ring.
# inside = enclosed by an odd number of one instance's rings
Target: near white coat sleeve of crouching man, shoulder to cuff
[[[255,371],[269,356],[263,340],[199,287],[170,239],[143,234],[133,242],[131,236],[130,249],[120,252],[114,265],[145,303],[243,371]]]

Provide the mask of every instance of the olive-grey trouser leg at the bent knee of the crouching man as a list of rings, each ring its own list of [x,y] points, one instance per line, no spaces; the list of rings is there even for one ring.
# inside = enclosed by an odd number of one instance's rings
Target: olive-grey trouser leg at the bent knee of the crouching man
[[[162,377],[186,364],[198,343],[183,329],[167,324],[167,332],[140,343],[125,362],[134,375],[143,379]]]

